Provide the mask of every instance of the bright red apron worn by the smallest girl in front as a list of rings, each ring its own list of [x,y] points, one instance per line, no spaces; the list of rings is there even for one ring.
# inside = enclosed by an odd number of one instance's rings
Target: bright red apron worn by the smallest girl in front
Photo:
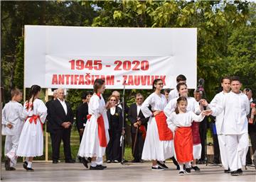
[[[193,139],[191,127],[178,127],[174,136],[174,149],[178,162],[193,161]]]

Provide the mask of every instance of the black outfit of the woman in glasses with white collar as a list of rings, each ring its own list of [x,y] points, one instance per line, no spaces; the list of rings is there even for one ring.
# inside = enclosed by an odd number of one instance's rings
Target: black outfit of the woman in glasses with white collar
[[[106,149],[107,160],[121,161],[122,147],[120,147],[120,137],[122,135],[122,109],[116,106],[114,115],[108,109],[107,118],[110,124],[110,142],[107,144]]]

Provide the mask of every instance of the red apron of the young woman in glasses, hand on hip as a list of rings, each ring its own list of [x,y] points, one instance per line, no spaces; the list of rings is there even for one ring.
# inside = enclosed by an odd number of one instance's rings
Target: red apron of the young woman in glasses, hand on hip
[[[161,111],[158,115],[155,116],[156,118],[156,125],[159,132],[159,140],[161,141],[168,141],[174,139],[174,134],[171,132],[170,128],[166,123],[166,115],[164,112]]]

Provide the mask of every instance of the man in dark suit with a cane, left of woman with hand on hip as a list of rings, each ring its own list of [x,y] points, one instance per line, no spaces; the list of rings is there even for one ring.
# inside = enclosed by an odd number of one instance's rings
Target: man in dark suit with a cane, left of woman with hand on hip
[[[131,122],[133,162],[142,161],[142,149],[145,137],[144,132],[146,132],[143,128],[146,129],[146,123],[149,121],[149,118],[145,118],[142,114],[142,110],[140,110],[143,101],[144,98],[142,94],[137,93],[136,103],[130,106],[128,112],[128,120]]]

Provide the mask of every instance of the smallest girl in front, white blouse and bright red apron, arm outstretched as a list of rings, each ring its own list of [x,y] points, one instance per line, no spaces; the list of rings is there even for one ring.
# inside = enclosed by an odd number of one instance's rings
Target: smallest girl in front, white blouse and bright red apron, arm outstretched
[[[176,159],[180,165],[179,175],[183,175],[183,164],[186,169],[189,168],[189,163],[193,161],[193,136],[191,123],[201,122],[207,111],[203,111],[200,115],[196,115],[191,110],[186,110],[188,106],[187,98],[181,96],[177,99],[177,107],[175,112],[171,113],[167,119],[167,123],[174,132],[174,149]],[[187,171],[187,170],[186,170]]]

